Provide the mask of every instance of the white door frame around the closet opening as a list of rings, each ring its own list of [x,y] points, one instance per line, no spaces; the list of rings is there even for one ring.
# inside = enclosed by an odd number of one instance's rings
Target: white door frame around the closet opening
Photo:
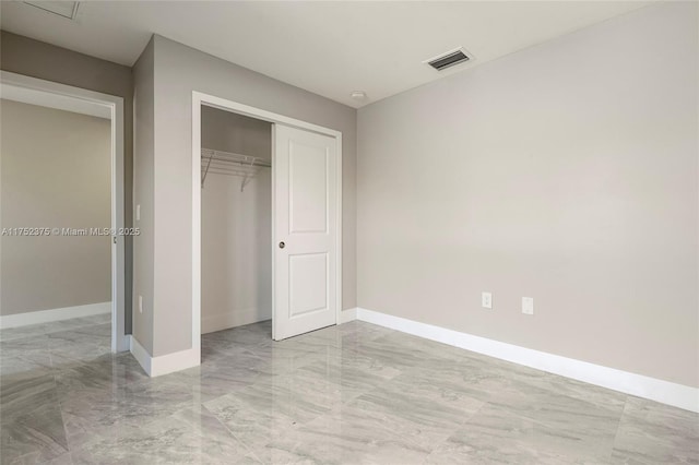
[[[329,135],[335,140],[337,163],[336,163],[336,187],[337,190],[337,208],[335,213],[335,250],[337,260],[335,261],[335,324],[340,324],[342,312],[342,132],[334,129],[324,128],[284,115],[251,107],[238,102],[228,100],[226,98],[216,97],[214,95],[204,94],[202,92],[192,91],[192,348],[201,347],[201,106],[217,108],[250,118],[268,121],[273,124],[291,126],[293,128],[306,131],[317,132],[319,134]],[[272,147],[274,147],[274,126],[272,126]],[[274,202],[274,157],[275,151],[272,150],[272,219],[276,217],[276,208]],[[276,333],[276,303],[274,298],[274,275],[275,260],[274,238],[274,220],[272,220],[272,337]]]

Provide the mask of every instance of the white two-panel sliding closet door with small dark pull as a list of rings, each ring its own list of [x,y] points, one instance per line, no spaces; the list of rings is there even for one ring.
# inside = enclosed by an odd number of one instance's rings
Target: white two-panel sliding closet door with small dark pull
[[[336,323],[335,139],[275,124],[275,341]]]

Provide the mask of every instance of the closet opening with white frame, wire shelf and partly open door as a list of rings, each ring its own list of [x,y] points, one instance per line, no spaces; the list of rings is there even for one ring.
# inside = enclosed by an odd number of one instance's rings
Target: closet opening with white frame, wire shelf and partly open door
[[[193,92],[192,187],[193,348],[270,318],[275,341],[340,322],[342,133]]]

